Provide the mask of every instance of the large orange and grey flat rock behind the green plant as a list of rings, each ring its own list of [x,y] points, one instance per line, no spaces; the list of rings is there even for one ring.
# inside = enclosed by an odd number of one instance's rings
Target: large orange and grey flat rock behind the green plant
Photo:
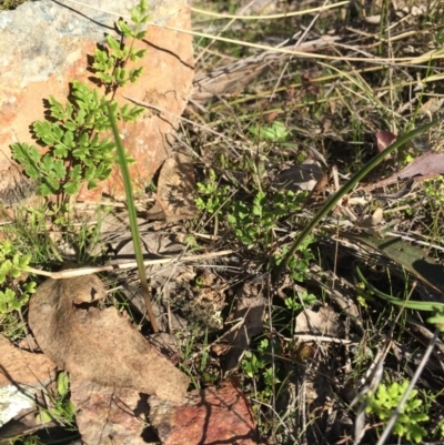
[[[68,0],[41,0],[0,13],[0,175],[12,165],[10,144],[36,145],[30,124],[43,120],[43,99],[53,95],[64,104],[74,79],[93,87],[88,68],[97,45],[105,44],[107,33],[118,37],[114,22],[127,18],[137,3],[97,0],[90,8]],[[152,0],[150,8],[153,23],[191,29],[186,0]],[[125,98],[132,98],[165,110],[147,109],[138,122],[120,124],[125,149],[135,159],[130,168],[134,186],[142,190],[170,152],[194,71],[190,34],[150,24],[138,47],[149,50],[138,64],[144,65],[144,73],[137,83],[119,89],[115,99],[124,104]],[[121,198],[122,190],[115,169],[110,180],[92,191],[82,190],[78,200],[98,200],[102,193]]]

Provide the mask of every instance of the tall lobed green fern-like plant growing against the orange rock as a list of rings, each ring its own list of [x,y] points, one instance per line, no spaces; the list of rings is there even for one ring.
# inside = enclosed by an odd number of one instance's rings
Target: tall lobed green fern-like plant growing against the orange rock
[[[145,55],[145,50],[135,50],[134,41],[141,40],[145,31],[141,27],[150,16],[145,0],[131,10],[134,23],[130,28],[123,20],[118,22],[121,42],[108,36],[109,49],[97,49],[92,68],[105,87],[105,93],[112,95],[127,82],[135,82],[142,74],[142,68],[125,69],[129,60],[138,61]],[[130,39],[128,45],[124,39]],[[11,145],[12,156],[24,166],[24,172],[38,183],[38,192],[43,196],[62,194],[74,195],[83,182],[93,189],[99,181],[109,178],[115,163],[115,143],[102,134],[111,129],[109,107],[118,120],[134,122],[143,113],[137,105],[119,103],[108,98],[98,89],[74,80],[70,99],[63,105],[56,98],[48,99],[49,115],[44,121],[36,121],[32,132],[46,153],[27,143]]]

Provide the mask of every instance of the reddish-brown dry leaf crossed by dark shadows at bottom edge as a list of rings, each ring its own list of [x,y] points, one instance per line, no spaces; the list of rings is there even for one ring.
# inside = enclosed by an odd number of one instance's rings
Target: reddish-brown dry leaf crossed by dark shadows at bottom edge
[[[162,445],[255,445],[251,409],[231,383],[193,391],[186,405],[150,397],[150,423]]]

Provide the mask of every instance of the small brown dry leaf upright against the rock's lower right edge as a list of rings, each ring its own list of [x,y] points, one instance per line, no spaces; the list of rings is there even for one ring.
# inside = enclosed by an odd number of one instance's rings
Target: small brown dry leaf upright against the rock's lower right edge
[[[155,204],[147,212],[149,220],[168,222],[194,218],[194,166],[190,156],[173,153],[162,165]]]

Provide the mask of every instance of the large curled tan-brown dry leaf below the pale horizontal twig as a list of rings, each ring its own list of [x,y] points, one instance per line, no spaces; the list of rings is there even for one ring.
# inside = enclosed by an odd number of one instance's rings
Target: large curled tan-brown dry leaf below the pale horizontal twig
[[[104,293],[95,275],[47,280],[32,295],[29,325],[42,351],[73,381],[130,387],[182,402],[190,383],[114,307],[77,309]]]

